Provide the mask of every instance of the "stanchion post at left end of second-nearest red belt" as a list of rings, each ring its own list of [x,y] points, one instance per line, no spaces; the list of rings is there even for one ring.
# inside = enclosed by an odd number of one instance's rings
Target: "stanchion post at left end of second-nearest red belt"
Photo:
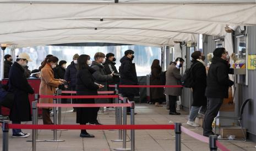
[[[37,103],[39,102],[39,94],[35,94],[35,101],[32,102],[32,124],[37,125],[38,124],[38,109],[37,109]],[[35,135],[35,139],[34,139]],[[33,141],[35,142],[45,142],[44,140],[37,140],[38,130],[32,130],[32,140],[28,140],[27,142],[32,142],[32,148],[33,148]]]

